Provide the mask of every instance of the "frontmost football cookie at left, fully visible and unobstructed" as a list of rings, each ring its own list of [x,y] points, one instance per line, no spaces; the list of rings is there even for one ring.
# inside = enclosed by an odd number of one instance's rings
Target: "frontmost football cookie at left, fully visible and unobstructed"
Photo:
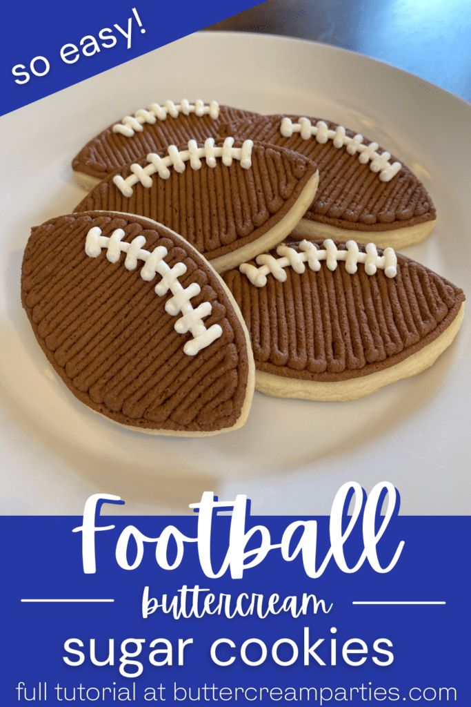
[[[241,427],[254,392],[249,335],[231,293],[176,233],[136,216],[59,216],[32,229],[23,307],[73,395],[162,435]]]

